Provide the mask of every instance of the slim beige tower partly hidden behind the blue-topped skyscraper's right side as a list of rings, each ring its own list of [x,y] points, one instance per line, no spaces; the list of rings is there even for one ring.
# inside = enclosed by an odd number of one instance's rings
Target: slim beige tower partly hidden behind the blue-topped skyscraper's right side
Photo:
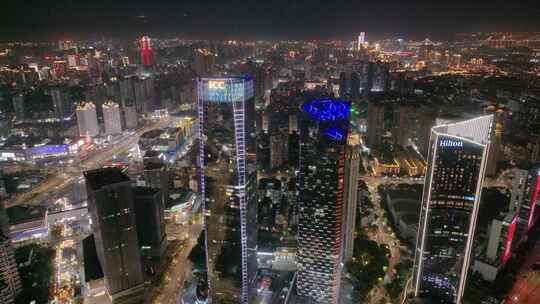
[[[358,171],[360,169],[360,135],[349,134],[345,151],[345,186],[343,199],[343,263],[354,252],[356,207],[358,204]]]

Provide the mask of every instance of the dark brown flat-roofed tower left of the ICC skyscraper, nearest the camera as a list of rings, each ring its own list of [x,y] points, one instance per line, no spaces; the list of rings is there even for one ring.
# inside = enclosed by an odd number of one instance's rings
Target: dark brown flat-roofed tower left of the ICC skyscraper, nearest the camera
[[[84,177],[108,296],[112,303],[136,303],[144,281],[131,181],[118,168],[86,171]]]

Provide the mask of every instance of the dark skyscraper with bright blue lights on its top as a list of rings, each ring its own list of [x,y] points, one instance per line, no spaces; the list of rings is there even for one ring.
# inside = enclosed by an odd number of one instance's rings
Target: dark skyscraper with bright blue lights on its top
[[[302,105],[298,197],[298,294],[337,303],[350,104],[317,99]]]

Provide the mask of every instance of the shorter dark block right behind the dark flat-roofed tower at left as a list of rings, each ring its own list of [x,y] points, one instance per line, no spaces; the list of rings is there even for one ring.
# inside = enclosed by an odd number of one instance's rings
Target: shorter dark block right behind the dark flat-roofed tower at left
[[[134,205],[137,237],[143,256],[162,257],[167,248],[164,204],[156,188],[135,187]]]

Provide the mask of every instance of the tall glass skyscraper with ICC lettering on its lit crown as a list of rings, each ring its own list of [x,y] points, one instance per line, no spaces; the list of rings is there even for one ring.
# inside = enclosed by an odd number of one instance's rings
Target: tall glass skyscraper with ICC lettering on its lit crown
[[[209,301],[247,304],[257,272],[253,80],[200,78],[197,84]]]

